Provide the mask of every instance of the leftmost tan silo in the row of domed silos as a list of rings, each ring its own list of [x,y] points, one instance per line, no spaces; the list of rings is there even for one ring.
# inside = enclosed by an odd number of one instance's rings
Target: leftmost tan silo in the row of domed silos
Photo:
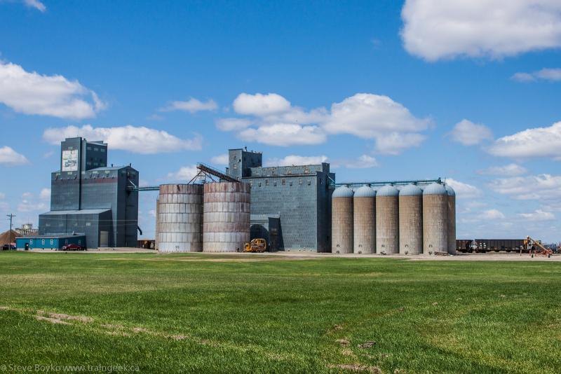
[[[331,252],[353,253],[353,190],[341,186],[333,191],[331,214]]]

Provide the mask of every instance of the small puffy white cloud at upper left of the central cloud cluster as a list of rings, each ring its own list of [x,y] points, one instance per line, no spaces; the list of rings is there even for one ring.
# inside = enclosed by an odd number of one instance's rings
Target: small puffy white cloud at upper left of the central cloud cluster
[[[266,95],[257,93],[250,95],[241,93],[234,100],[234,111],[250,116],[268,116],[281,113],[290,109],[290,102],[284,97],[269,93]]]

